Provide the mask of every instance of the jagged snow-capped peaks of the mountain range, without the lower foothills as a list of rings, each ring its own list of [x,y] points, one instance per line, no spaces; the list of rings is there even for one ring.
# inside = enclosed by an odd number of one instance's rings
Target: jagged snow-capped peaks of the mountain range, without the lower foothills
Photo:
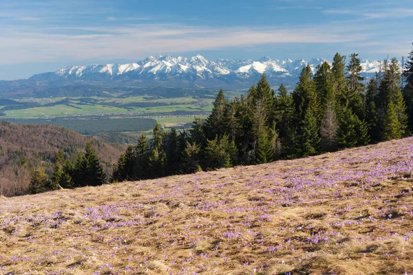
[[[268,57],[253,60],[218,59],[209,61],[201,55],[185,58],[182,56],[149,56],[142,61],[128,64],[70,66],[56,72],[36,74],[32,80],[222,80],[226,83],[245,81],[265,73],[269,78],[297,78],[306,65],[313,72],[317,65],[324,63],[324,58],[310,61],[290,59],[273,60]],[[330,63],[330,61],[327,61]],[[331,63],[330,63],[331,64]],[[363,73],[374,74],[379,68],[379,61],[362,61]]]

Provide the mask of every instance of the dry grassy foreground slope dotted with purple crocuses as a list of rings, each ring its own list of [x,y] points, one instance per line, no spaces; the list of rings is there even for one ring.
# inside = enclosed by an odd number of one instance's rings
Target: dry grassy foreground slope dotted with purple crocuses
[[[0,201],[0,274],[412,274],[413,138]]]

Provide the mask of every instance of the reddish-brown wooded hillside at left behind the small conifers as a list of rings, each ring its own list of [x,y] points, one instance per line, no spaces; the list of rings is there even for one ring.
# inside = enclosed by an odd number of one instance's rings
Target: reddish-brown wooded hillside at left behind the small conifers
[[[0,121],[0,190],[3,195],[25,193],[32,170],[43,166],[52,172],[52,162],[61,149],[65,159],[75,159],[87,140],[96,148],[104,169],[110,173],[124,150],[107,142],[48,124],[12,124]]]

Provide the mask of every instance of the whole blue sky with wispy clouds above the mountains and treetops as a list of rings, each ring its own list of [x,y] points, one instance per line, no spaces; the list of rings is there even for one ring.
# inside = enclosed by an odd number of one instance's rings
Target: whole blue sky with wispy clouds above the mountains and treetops
[[[401,58],[412,19],[412,0],[0,0],[0,80],[160,54]]]

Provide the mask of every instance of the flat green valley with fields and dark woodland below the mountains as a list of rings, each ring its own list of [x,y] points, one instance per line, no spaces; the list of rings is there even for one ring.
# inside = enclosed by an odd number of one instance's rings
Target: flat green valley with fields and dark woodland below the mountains
[[[229,99],[240,96],[229,91]],[[188,129],[194,116],[207,118],[216,94],[105,97],[19,98],[0,106],[4,120],[15,123],[47,123],[83,134],[149,133],[158,122],[163,128]],[[10,103],[10,104],[9,104]]]

